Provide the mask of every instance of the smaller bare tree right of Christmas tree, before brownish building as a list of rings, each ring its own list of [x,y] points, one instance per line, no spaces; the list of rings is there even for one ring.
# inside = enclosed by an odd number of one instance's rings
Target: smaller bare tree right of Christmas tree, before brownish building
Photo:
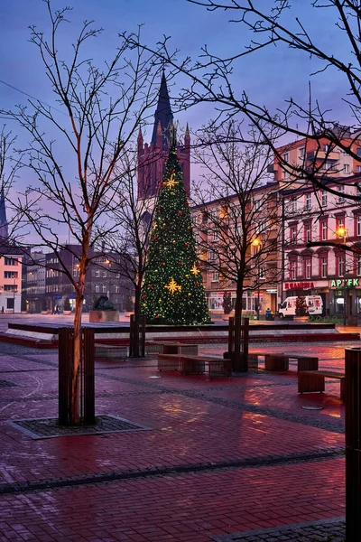
[[[240,143],[245,138],[250,142],[247,145]],[[195,211],[200,210],[200,259],[207,271],[218,273],[226,289],[236,285],[239,327],[245,290],[259,291],[261,285],[274,285],[278,279],[282,216],[278,185],[270,182],[267,172],[273,153],[256,128],[244,135],[242,125],[235,121],[209,125],[198,144],[194,154],[203,170]],[[237,341],[236,347],[239,350]]]

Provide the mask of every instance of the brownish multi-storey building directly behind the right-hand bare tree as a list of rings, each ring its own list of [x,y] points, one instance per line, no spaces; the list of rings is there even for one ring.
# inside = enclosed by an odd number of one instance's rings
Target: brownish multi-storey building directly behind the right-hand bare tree
[[[273,182],[256,188],[244,210],[239,209],[236,195],[192,208],[203,284],[211,313],[223,313],[225,292],[231,294],[233,306],[236,304],[236,270],[241,266],[239,252],[245,244],[244,314],[259,313],[262,317],[267,308],[277,310],[281,231],[278,188],[278,183]],[[248,222],[247,239],[243,220]]]

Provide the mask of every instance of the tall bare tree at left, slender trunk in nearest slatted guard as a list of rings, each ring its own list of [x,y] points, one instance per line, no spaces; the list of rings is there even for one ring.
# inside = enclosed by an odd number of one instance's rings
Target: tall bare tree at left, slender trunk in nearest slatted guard
[[[32,26],[31,42],[41,56],[57,109],[29,100],[28,107],[19,106],[5,114],[30,135],[22,152],[36,179],[19,195],[14,210],[40,239],[33,245],[51,248],[59,258],[60,270],[76,293],[71,421],[78,424],[81,313],[90,249],[100,243],[99,236],[104,238],[116,228],[114,222],[104,224],[109,195],[118,192],[123,181],[119,171],[115,174],[115,167],[126,154],[147,107],[157,98],[153,81],[158,73],[152,55],[132,51],[125,34],[113,58],[101,68],[95,66],[86,46],[101,29],[93,28],[89,21],[75,39],[72,53],[61,53],[58,36],[70,10],[66,7],[54,12],[50,0],[45,4],[49,36]],[[68,60],[62,54],[68,55]],[[96,229],[97,224],[103,227]],[[60,233],[64,229],[69,229],[81,247],[74,253],[77,277],[61,261],[61,250],[67,248],[62,240],[67,236]]]

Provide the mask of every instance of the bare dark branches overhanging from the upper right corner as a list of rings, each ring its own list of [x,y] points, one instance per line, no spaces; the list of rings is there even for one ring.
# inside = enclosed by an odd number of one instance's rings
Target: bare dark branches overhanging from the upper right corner
[[[305,154],[303,162],[292,163],[285,158],[287,145],[280,152],[277,141],[270,139],[268,145],[273,149],[275,160],[282,169],[289,173],[293,180],[304,183],[312,182],[315,187],[338,194],[338,184],[342,179],[334,179],[333,185],[324,186],[328,174],[325,164],[329,154],[335,148],[349,156],[356,164],[361,164],[361,156],[357,153],[360,146],[361,122],[361,12],[359,3],[352,0],[309,0],[308,7],[316,10],[328,10],[333,15],[334,25],[329,33],[334,33],[334,42],[347,43],[349,55],[344,48],[335,47],[330,51],[319,39],[319,31],[310,32],[306,21],[302,21],[297,13],[297,3],[292,5],[290,0],[273,0],[258,2],[257,0],[188,0],[191,4],[205,7],[210,12],[226,11],[230,14],[230,24],[237,24],[245,29],[247,34],[253,34],[250,42],[244,45],[236,43],[236,49],[224,56],[218,51],[211,51],[204,46],[197,60],[186,57],[180,60],[179,51],[171,50],[170,39],[165,37],[157,48],[134,41],[134,45],[142,50],[153,51],[158,58],[167,62],[172,73],[180,72],[188,76],[190,85],[180,92],[176,99],[178,107],[187,108],[199,103],[214,104],[218,111],[218,119],[229,119],[235,115],[245,117],[251,126],[256,126],[263,132],[264,138],[270,126],[279,129],[280,134],[287,135],[293,140],[300,137],[305,139],[305,148],[310,143],[316,147],[311,157]],[[293,14],[293,10],[296,13]],[[292,16],[293,15],[293,16]],[[311,87],[308,98],[296,101],[288,98],[284,107],[270,110],[264,104],[257,103],[244,90],[236,89],[233,73],[238,67],[238,61],[255,54],[256,51],[274,45],[285,45],[292,51],[305,53],[311,61],[314,71],[311,78],[316,78],[324,71],[338,72],[344,78],[345,95],[338,97],[340,102],[349,107],[350,117],[355,119],[354,126],[343,126],[338,118],[338,112],[332,111],[321,103],[319,98],[313,98]],[[274,49],[274,54],[277,50]],[[311,70],[312,70],[311,68]],[[274,79],[277,81],[277,79]],[[270,83],[271,84],[271,83]],[[277,83],[278,84],[278,81]],[[326,148],[326,151],[325,151]],[[355,182],[356,184],[356,182]],[[335,186],[336,185],[336,186]],[[350,201],[359,201],[355,192],[347,192],[345,197]]]

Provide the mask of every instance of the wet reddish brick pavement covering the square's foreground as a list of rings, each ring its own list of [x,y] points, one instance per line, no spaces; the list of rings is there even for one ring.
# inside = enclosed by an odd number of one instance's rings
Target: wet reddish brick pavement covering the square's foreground
[[[343,369],[340,345],[312,350]],[[56,416],[56,353],[0,344],[0,380],[16,384],[0,388],[0,541],[206,542],[264,528],[271,540],[344,514],[337,385],[299,396],[292,371],[209,382],[160,375],[153,360],[98,362],[97,414],[151,430],[33,440],[7,420]]]

